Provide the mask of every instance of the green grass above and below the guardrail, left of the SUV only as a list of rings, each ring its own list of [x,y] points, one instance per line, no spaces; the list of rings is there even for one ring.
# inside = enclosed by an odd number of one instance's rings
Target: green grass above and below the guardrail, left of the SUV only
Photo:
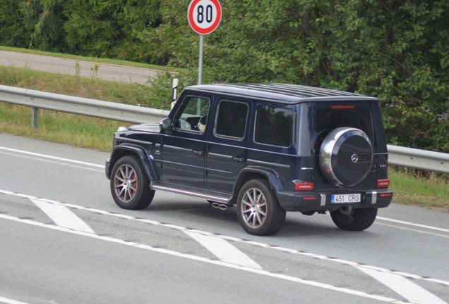
[[[154,106],[148,102],[151,99],[149,87],[141,84],[90,80],[4,66],[0,66],[0,84],[88,99]],[[167,107],[169,107],[169,101],[165,105],[165,108]],[[35,130],[31,126],[31,116],[32,109],[29,107],[0,102],[0,132],[110,151],[112,134],[117,127],[131,125],[128,122],[40,109],[39,129]]]

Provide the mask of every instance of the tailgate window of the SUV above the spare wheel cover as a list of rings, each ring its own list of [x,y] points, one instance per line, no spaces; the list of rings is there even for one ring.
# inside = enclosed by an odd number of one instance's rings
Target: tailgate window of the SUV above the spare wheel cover
[[[326,135],[337,127],[360,129],[373,142],[373,124],[369,108],[325,108],[316,110],[318,146],[321,146]]]

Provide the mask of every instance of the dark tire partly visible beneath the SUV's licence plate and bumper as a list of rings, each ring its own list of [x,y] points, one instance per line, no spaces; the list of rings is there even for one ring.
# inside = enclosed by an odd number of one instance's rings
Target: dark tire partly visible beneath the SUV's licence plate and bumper
[[[377,208],[352,209],[342,207],[332,211],[330,217],[338,228],[348,231],[367,229],[376,220]]]

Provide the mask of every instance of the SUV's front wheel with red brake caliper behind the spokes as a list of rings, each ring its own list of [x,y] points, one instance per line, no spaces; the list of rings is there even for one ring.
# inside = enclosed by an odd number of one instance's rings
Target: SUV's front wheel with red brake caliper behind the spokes
[[[150,205],[155,191],[140,160],[135,156],[120,158],[111,172],[112,198],[120,208],[140,210]]]

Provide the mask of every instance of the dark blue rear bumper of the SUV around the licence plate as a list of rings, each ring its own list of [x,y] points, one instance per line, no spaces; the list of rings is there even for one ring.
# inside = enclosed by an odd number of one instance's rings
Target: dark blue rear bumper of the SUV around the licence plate
[[[332,194],[344,194],[341,192],[290,192],[276,191],[277,201],[286,211],[320,211],[337,210],[342,206],[352,206],[352,208],[385,208],[393,201],[393,190],[376,189],[372,191],[349,191],[361,194],[360,203],[331,203]]]

